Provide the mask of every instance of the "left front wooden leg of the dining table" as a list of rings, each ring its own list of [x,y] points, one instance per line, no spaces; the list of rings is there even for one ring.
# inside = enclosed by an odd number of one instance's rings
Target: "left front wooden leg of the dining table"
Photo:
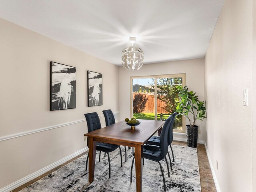
[[[95,158],[96,158],[96,142],[94,138],[88,137],[89,139],[89,182],[94,180],[94,168],[95,168]]]

